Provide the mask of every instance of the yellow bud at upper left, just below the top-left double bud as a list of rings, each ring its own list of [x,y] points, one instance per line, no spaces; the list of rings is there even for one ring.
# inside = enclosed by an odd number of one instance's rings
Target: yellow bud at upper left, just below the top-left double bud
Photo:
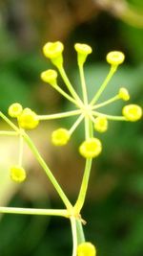
[[[57,72],[53,69],[46,70],[41,73],[41,79],[49,82],[52,86],[56,86]]]

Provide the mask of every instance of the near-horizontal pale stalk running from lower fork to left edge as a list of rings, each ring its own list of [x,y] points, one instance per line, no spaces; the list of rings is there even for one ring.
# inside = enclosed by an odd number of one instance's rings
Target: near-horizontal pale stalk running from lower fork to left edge
[[[67,210],[56,209],[31,209],[31,208],[18,208],[18,207],[0,207],[0,213],[7,214],[27,214],[27,215],[51,215],[61,216],[68,218]]]

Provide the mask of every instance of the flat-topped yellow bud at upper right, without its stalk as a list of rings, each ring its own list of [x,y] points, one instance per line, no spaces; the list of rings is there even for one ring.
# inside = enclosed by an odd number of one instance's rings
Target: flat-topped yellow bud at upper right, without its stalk
[[[113,51],[107,55],[106,59],[109,64],[117,66],[123,63],[125,55],[122,52]]]

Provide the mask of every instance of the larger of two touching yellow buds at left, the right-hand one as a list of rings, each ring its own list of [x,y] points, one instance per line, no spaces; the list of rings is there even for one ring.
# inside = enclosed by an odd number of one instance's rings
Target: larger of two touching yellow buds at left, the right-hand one
[[[20,128],[32,129],[38,126],[39,120],[36,113],[26,107],[18,117],[18,124]]]

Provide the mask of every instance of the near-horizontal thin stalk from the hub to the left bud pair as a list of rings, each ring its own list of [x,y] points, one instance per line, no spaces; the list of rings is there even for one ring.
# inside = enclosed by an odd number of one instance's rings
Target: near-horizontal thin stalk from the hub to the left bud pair
[[[71,117],[75,115],[81,114],[81,110],[72,110],[72,111],[67,111],[63,113],[58,113],[58,114],[51,114],[51,115],[38,115],[38,120],[52,120],[52,119],[58,119],[58,118],[65,118],[65,117]]]

